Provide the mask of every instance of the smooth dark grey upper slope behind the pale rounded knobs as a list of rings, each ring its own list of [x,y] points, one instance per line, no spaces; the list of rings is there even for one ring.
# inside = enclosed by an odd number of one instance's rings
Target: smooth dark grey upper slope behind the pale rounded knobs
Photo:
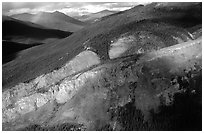
[[[32,48],[32,50],[21,52],[19,54],[21,58],[16,58],[14,61],[3,65],[3,89],[12,87],[20,82],[29,81],[44,73],[49,73],[62,67],[66,61],[71,60],[83,50],[83,43],[88,43],[88,40],[94,37],[96,43],[93,43],[93,46],[98,43],[107,45],[110,42],[107,42],[106,38],[102,38],[103,34],[109,32],[111,35],[113,29],[117,29],[121,26],[128,26],[129,29],[131,29],[131,26],[137,25],[138,21],[144,19],[157,19],[159,22],[165,21],[167,24],[170,23],[174,26],[179,25],[185,29],[202,23],[200,17],[202,16],[201,3],[191,4],[184,9],[179,8],[180,11],[177,11],[178,9],[176,9],[176,11],[174,9],[164,10],[165,7],[161,10],[161,7],[155,8],[155,6],[156,3],[139,8],[134,7],[120,14],[111,16],[108,19],[84,27],[66,39],[54,43],[47,43],[37,48]],[[165,32],[168,32],[168,30]],[[113,32],[112,35],[114,35],[114,33],[117,32]],[[122,28],[118,30],[118,34],[120,33],[124,33]],[[101,37],[97,38],[97,36]],[[102,46],[100,48],[106,49]]]

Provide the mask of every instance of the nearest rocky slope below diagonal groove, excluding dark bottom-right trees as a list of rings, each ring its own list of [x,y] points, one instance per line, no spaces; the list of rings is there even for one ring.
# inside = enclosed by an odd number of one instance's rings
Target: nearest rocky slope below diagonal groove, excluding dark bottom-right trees
[[[160,105],[171,105],[174,102],[172,96],[188,89],[182,83],[193,82],[190,80],[192,75],[184,78],[184,70],[194,71],[195,77],[200,74],[201,45],[201,39],[197,39],[139,57],[107,62],[66,77],[48,87],[49,91],[30,93],[30,96],[18,97],[14,101],[11,100],[11,91],[4,92],[3,123],[11,123],[10,130],[39,123],[42,127],[77,123],[86,130],[118,123],[114,127],[123,128],[125,125],[118,121],[118,108],[130,102],[148,121],[151,110],[159,112]],[[82,57],[79,59],[84,60]],[[81,68],[76,67],[75,70]],[[14,106],[8,108],[11,103]]]

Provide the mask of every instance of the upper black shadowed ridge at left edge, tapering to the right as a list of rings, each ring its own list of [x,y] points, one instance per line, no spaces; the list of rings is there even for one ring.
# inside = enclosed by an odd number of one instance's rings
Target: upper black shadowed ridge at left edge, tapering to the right
[[[3,40],[29,45],[36,43],[49,43],[71,35],[71,32],[47,29],[40,25],[23,22],[8,16],[3,16],[2,21]]]

